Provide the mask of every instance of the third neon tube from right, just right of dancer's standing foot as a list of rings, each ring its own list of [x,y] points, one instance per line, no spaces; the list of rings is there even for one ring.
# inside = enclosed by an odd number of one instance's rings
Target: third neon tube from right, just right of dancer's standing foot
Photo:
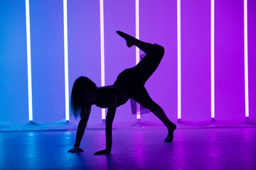
[[[181,0],[177,0],[178,119],[181,119]]]

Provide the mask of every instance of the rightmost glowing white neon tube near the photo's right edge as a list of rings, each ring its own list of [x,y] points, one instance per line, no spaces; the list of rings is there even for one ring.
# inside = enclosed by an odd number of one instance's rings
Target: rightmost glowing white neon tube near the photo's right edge
[[[247,46],[247,0],[244,0],[244,43],[245,43],[245,117],[249,117],[248,46]]]

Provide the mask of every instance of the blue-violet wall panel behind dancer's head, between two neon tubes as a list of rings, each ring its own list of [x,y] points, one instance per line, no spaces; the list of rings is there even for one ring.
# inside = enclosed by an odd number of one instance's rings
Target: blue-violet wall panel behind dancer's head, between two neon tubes
[[[80,76],[100,86],[100,1],[68,1],[68,64],[70,93]],[[92,107],[88,123],[99,121],[101,109]]]

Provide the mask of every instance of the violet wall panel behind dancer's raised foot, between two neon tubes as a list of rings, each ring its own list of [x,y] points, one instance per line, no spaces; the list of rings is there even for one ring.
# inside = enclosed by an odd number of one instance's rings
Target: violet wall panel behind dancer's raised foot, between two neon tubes
[[[106,85],[112,85],[120,72],[136,64],[135,48],[128,48],[125,40],[116,33],[116,30],[122,30],[135,35],[135,2],[111,0],[104,3]],[[117,108],[115,122],[135,119],[129,101]]]

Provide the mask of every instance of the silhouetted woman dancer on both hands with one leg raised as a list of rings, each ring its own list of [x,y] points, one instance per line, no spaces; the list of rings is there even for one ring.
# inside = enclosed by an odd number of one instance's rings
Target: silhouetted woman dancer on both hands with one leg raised
[[[146,80],[151,77],[151,74],[159,66],[164,56],[164,47],[142,42],[121,31],[117,31],[117,34],[126,40],[128,47],[135,45],[145,52],[146,55],[135,67],[121,72],[112,86],[97,87],[87,77],[79,77],[75,80],[71,92],[70,106],[75,118],[80,115],[81,120],[78,124],[75,145],[68,152],[83,152],[80,149],[80,142],[85,132],[91,107],[95,104],[100,108],[107,108],[105,121],[106,149],[95,152],[95,154],[110,154],[112,149],[112,122],[116,108],[126,103],[129,98],[134,99],[144,108],[149,109],[166,125],[168,134],[164,142],[172,142],[174,139],[176,125],[167,118],[163,109],[151,99],[144,87]]]

